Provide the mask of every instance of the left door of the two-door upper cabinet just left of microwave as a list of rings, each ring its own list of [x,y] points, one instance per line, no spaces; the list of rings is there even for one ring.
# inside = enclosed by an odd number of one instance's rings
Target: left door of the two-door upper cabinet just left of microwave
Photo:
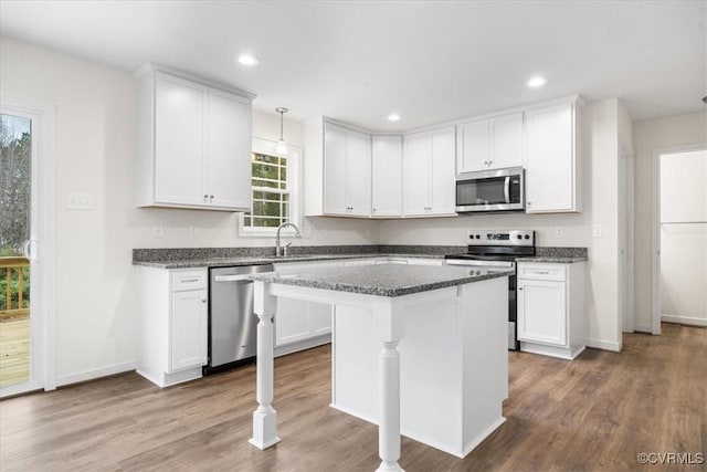
[[[408,135],[403,139],[403,211],[405,216],[424,216],[430,208],[429,133]]]

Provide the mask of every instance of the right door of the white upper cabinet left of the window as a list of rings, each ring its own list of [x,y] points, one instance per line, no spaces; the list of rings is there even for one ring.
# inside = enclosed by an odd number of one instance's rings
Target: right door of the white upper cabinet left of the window
[[[209,91],[205,188],[209,191],[209,202],[214,206],[251,206],[252,122],[249,98]]]

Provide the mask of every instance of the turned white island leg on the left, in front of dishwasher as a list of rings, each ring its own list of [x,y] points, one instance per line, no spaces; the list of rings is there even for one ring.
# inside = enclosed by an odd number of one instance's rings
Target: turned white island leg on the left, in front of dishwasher
[[[273,316],[277,306],[277,297],[270,292],[270,284],[255,282],[254,311],[257,323],[257,358],[256,358],[256,399],[257,409],[253,412],[253,438],[249,441],[258,449],[267,449],[279,442],[277,437],[277,412],[271,405],[273,401]]]

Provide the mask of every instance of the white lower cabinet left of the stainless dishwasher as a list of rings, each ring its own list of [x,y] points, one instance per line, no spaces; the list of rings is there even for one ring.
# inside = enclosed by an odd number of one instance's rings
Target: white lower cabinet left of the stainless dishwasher
[[[208,270],[136,268],[137,373],[159,387],[201,377],[207,364]]]

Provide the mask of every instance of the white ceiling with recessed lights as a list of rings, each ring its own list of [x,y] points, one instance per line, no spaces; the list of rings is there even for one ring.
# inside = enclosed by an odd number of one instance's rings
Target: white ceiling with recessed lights
[[[289,118],[402,130],[579,93],[633,119],[706,109],[707,1],[0,1],[0,32],[128,71],[151,60]],[[251,52],[260,64],[235,57]],[[524,83],[542,74],[549,83]],[[395,124],[386,117],[397,112]]]

